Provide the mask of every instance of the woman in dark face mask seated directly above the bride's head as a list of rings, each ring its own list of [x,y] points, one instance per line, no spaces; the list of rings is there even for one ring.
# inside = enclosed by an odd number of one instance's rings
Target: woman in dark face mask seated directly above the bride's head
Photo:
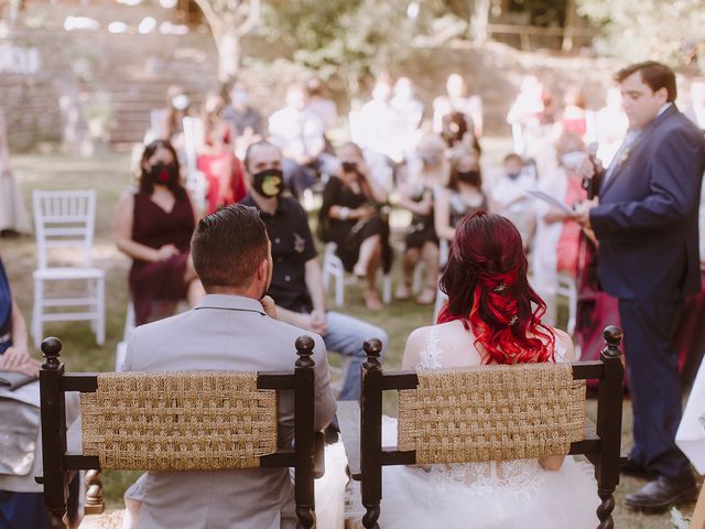
[[[455,228],[465,215],[487,208],[477,158],[465,149],[456,151],[451,163],[448,185],[436,194],[434,224],[438,238],[453,240]]]

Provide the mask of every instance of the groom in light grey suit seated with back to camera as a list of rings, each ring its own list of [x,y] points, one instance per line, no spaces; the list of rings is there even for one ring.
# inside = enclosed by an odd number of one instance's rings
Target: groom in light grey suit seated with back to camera
[[[206,296],[195,309],[134,330],[124,370],[291,370],[294,342],[315,341],[315,428],[335,413],[328,361],[317,334],[275,320],[264,293],[272,278],[271,245],[259,212],[232,205],[200,219],[191,241]],[[294,436],[292,392],[279,399],[279,445]],[[149,472],[126,493],[141,503],[139,528],[279,529],[296,526],[286,468]]]

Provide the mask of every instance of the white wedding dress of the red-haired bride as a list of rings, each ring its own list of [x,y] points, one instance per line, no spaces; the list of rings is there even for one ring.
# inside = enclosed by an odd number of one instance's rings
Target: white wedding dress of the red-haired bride
[[[417,369],[443,367],[437,333],[430,328]],[[383,418],[382,445],[397,445],[395,419]],[[379,523],[382,529],[594,529],[600,500],[593,474],[592,465],[572,456],[560,471],[545,471],[538,460],[387,466]],[[348,516],[359,520],[365,510],[358,483],[352,495]]]

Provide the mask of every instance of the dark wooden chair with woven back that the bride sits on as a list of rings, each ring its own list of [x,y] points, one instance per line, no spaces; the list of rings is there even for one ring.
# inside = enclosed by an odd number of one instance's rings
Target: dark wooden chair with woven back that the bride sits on
[[[622,332],[619,327],[607,327],[607,346],[601,350],[600,359],[595,361],[484,366],[419,373],[382,370],[378,360],[381,343],[378,339],[366,342],[361,411],[357,402],[338,403],[338,420],[348,456],[348,471],[354,479],[361,482],[361,499],[366,509],[364,527],[379,528],[377,520],[382,498],[383,466],[584,454],[595,465],[597,492],[601,499],[597,507],[600,520],[598,528],[612,528],[612,494],[619,483],[621,446],[621,339]],[[460,384],[453,385],[453,379]],[[596,425],[585,420],[586,379],[599,380]],[[499,380],[503,384],[497,384]],[[554,385],[547,392],[546,380]],[[485,389],[478,388],[482,385]],[[499,387],[510,389],[498,389],[497,392],[501,395],[494,395],[494,388]],[[543,395],[555,392],[556,396],[562,396],[554,398],[554,404],[533,407],[534,411],[539,408],[552,408],[554,414],[545,420],[543,417],[532,418],[538,420],[530,432],[520,431],[524,430],[521,427],[525,423],[519,423],[519,428],[511,427],[517,424],[514,418],[507,421],[507,429],[499,432],[491,442],[487,442],[492,436],[488,435],[488,431],[484,432],[484,440],[474,435],[478,428],[482,429],[482,422],[475,421],[469,417],[471,413],[456,411],[460,401],[458,392],[462,392],[464,402],[478,403],[488,413],[486,417],[495,417],[491,413],[494,402],[501,406],[500,400],[507,402],[508,398],[512,398],[511,392],[519,388],[527,391],[522,393],[524,396],[533,391],[535,402],[541,403],[544,401]],[[398,446],[382,446],[382,392],[386,390],[400,391]],[[481,392],[478,393],[478,390]],[[477,398],[478,395],[481,395],[481,399]],[[427,410],[423,409],[424,399],[432,402]],[[564,399],[568,400],[565,406],[561,404]],[[488,403],[488,400],[492,402]],[[511,401],[514,402],[516,399]],[[521,408],[520,413],[525,414],[528,409],[523,400],[521,404],[517,408]],[[447,420],[443,418],[446,414]],[[552,423],[557,423],[557,427],[549,427]]]

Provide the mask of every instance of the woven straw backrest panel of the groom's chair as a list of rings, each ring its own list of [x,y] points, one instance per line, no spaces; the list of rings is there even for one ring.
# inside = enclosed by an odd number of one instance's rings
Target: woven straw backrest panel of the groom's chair
[[[251,468],[276,452],[276,392],[256,373],[108,373],[82,393],[83,451],[102,468]]]

